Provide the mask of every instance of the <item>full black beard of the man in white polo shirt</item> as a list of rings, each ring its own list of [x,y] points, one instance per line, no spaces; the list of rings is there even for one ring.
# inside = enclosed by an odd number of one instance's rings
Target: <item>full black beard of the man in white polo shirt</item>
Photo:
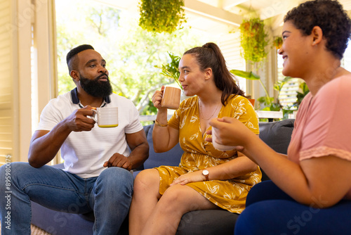
[[[102,76],[107,77],[107,82],[99,81],[99,78]],[[95,77],[94,80],[90,80],[86,77],[83,77],[80,73],[79,73],[79,77],[80,77],[79,82],[81,84],[81,88],[83,88],[84,91],[86,91],[86,93],[88,93],[89,95],[102,98],[112,94],[112,86],[110,84],[110,80],[107,74],[102,73],[98,77]]]

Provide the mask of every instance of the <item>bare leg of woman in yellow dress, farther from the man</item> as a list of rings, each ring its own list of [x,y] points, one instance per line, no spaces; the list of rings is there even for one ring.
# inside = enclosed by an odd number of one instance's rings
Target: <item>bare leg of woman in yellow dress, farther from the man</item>
[[[169,187],[159,199],[142,234],[176,234],[180,219],[186,212],[215,208],[218,206],[194,189],[176,184]]]

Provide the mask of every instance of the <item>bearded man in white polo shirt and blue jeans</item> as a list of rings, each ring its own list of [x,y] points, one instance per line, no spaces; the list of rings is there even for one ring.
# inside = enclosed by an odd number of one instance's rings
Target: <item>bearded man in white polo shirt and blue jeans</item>
[[[106,61],[93,46],[69,51],[67,65],[77,87],[51,100],[42,111],[29,146],[29,164],[11,163],[13,226],[4,234],[30,234],[31,201],[63,212],[93,211],[93,234],[117,234],[128,215],[133,193],[130,171],[149,154],[138,110],[130,100],[112,93]],[[101,128],[91,118],[93,109],[104,107],[118,107],[118,127]],[[59,150],[63,170],[46,165]],[[1,179],[5,175],[4,165]],[[5,184],[0,190],[8,191]],[[0,196],[5,222],[6,198]]]

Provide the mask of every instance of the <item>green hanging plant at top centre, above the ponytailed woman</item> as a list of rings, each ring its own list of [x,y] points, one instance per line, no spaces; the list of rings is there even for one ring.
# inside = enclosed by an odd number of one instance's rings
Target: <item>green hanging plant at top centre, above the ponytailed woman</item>
[[[139,26],[149,32],[176,31],[185,23],[184,0],[141,0]]]

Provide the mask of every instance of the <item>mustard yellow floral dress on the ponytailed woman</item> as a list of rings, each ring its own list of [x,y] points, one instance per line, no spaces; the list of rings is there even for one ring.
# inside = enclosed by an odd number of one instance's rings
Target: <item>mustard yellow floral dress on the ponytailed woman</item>
[[[226,106],[218,113],[218,118],[232,117],[240,120],[255,134],[259,133],[258,116],[250,101],[243,96],[232,95]],[[179,129],[180,147],[184,153],[179,167],[156,167],[160,175],[159,193],[168,189],[169,184],[182,174],[203,170],[226,163],[237,158],[237,151],[218,151],[207,136],[201,134],[199,120],[199,99],[197,96],[186,99],[169,120],[168,125]],[[211,129],[211,127],[209,127]],[[233,133],[234,134],[234,133]],[[251,187],[260,182],[262,174],[259,167],[254,172],[229,180],[210,180],[187,184],[209,201],[230,212],[241,213],[245,208],[246,196]]]

